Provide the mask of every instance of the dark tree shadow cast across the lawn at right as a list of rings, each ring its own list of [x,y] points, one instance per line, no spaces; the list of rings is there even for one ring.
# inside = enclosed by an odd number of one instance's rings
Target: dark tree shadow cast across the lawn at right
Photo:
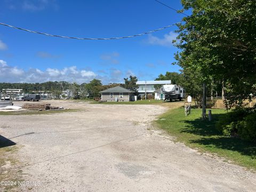
[[[202,121],[201,118],[195,119],[194,121],[182,121],[185,122],[187,126],[180,130],[180,132],[195,134],[200,137],[200,139],[197,140],[190,140],[191,143],[237,151],[242,155],[256,159],[256,143],[244,141],[239,138],[225,137],[215,129],[215,123],[220,116],[221,114],[212,115],[213,121],[211,122],[208,120]]]

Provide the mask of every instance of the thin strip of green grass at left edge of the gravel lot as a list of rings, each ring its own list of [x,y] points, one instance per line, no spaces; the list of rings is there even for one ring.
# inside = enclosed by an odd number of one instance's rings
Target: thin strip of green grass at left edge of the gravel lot
[[[57,114],[76,112],[78,109],[63,109],[63,110],[22,110],[22,111],[0,111],[0,115],[46,115],[46,114]]]

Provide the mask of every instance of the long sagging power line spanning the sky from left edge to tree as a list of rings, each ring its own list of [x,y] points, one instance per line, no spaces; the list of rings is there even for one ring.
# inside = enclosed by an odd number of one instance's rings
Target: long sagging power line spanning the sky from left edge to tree
[[[165,27],[162,27],[162,28],[159,28],[159,29],[155,29],[155,30],[147,31],[145,33],[131,35],[131,36],[110,37],[110,38],[87,38],[87,37],[81,38],[81,37],[69,37],[69,36],[61,36],[61,35],[52,35],[52,34],[47,34],[47,33],[42,33],[42,32],[38,32],[38,31],[33,31],[33,30],[29,30],[29,29],[23,29],[23,28],[20,28],[20,27],[15,27],[15,26],[7,25],[5,23],[0,23],[0,25],[6,26],[6,27],[27,31],[27,32],[34,33],[34,34],[41,34],[41,35],[46,35],[46,36],[51,36],[51,37],[69,38],[69,39],[80,39],[80,40],[112,40],[112,39],[132,38],[132,37],[138,37],[138,36],[154,33],[156,31],[163,30],[163,29],[175,26],[176,24],[177,23],[174,23],[174,24],[169,25],[169,26],[165,26]]]

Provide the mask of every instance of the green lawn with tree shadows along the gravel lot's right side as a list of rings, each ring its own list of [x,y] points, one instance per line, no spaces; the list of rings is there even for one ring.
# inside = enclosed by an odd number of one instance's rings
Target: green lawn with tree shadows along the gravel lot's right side
[[[242,165],[256,171],[256,145],[237,138],[221,135],[215,129],[217,119],[227,111],[212,109],[213,121],[202,121],[202,109],[192,109],[191,115],[185,117],[184,108],[171,109],[156,121],[158,127],[199,151],[225,157],[227,161]]]

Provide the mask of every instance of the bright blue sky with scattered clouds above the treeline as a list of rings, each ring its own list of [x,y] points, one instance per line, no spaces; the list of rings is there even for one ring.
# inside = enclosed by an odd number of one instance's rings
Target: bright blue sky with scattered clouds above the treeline
[[[180,1],[162,0],[175,9]],[[154,0],[2,0],[0,22],[54,35],[119,37],[181,21],[183,15]],[[0,82],[123,82],[153,80],[179,71],[173,26],[127,39],[88,41],[48,37],[0,26]]]

